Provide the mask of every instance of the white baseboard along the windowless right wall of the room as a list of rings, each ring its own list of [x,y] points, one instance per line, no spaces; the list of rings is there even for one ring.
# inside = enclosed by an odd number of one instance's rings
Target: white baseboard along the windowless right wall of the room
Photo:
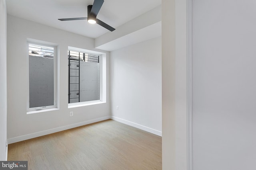
[[[152,129],[150,127],[146,127],[146,126],[143,126],[143,125],[139,125],[137,123],[134,123],[134,122],[131,122],[131,121],[127,121],[127,120],[124,120],[124,119],[120,119],[118,117],[114,117],[114,116],[111,116],[111,119],[115,120],[115,121],[119,121],[121,123],[124,123],[126,125],[130,125],[132,127],[136,127],[138,129],[142,129],[144,131],[147,131],[149,133],[153,133],[155,135],[158,135],[160,137],[162,137],[162,132],[161,131],[158,131],[158,130],[155,130],[155,129]]]

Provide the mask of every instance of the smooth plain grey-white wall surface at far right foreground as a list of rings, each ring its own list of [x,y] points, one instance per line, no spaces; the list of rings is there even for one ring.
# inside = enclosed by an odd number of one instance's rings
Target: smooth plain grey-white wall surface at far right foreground
[[[256,169],[255,9],[193,0],[194,170]]]

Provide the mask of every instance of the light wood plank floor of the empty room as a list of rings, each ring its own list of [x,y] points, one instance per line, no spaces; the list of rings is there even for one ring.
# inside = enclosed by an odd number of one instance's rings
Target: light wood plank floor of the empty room
[[[29,170],[161,170],[162,138],[114,120],[8,145]]]

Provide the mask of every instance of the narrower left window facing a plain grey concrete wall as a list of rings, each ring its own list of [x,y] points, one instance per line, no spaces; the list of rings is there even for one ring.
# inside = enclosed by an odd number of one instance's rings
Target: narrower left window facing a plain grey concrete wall
[[[28,111],[56,107],[55,47],[28,43]]]

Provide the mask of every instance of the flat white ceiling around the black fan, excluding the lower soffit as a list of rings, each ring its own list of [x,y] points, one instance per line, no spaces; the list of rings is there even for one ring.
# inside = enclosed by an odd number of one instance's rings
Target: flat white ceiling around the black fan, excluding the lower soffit
[[[94,0],[6,0],[6,5],[9,15],[95,39],[109,31],[98,24],[91,25],[86,20],[58,20],[87,17],[87,6],[93,2]],[[161,0],[105,0],[97,18],[118,29],[120,25],[160,5]]]

